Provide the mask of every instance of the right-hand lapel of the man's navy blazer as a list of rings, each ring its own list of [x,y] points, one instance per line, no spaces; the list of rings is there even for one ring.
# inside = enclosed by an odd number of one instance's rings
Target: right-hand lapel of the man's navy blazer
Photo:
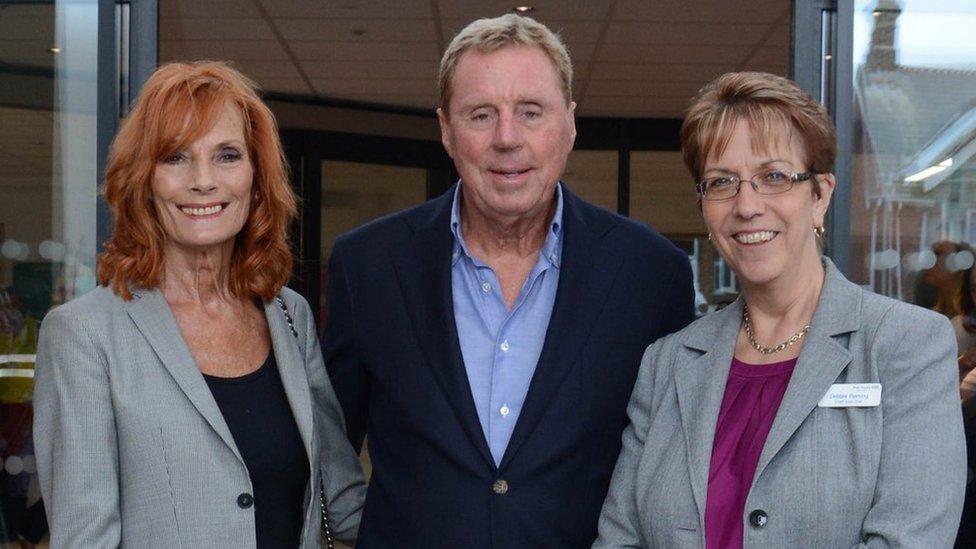
[[[596,245],[607,227],[590,227],[579,199],[563,185],[563,250],[559,286],[546,339],[499,469],[504,469],[542,418],[566,379],[606,303],[622,258]]]

